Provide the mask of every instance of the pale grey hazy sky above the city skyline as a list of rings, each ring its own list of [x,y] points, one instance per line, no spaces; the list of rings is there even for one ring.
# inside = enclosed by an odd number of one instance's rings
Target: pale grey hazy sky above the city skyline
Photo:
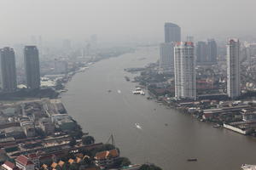
[[[183,37],[256,37],[255,8],[256,0],[0,0],[0,42],[161,40],[166,21]]]

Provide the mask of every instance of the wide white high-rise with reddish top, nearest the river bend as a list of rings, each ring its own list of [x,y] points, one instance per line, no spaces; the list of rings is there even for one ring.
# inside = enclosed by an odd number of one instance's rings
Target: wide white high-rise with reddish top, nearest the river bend
[[[177,42],[174,47],[175,97],[196,99],[193,42]]]

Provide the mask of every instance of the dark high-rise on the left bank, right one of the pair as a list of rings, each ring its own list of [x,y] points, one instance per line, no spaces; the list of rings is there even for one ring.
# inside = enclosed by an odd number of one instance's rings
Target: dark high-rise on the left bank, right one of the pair
[[[26,46],[24,48],[24,65],[26,71],[26,87],[40,88],[40,65],[38,48]]]

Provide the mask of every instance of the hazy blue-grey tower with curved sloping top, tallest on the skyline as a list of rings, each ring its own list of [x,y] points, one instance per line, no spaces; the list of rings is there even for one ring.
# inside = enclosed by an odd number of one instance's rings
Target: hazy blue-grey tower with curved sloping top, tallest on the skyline
[[[181,29],[176,24],[170,22],[165,24],[165,42],[180,42]]]

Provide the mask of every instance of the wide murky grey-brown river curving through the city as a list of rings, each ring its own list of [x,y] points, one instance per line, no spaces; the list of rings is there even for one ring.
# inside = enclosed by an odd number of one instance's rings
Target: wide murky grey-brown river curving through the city
[[[73,77],[61,100],[84,132],[104,143],[113,134],[121,155],[133,163],[151,162],[165,170],[238,170],[242,163],[256,164],[256,139],[198,122],[146,99],[147,94],[131,94],[137,84],[125,81],[134,75],[124,69],[158,58],[158,48],[139,48],[99,61]]]

